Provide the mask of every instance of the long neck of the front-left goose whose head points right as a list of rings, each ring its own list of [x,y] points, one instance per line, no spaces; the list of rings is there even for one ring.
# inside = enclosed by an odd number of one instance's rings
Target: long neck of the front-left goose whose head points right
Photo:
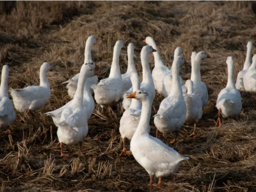
[[[83,99],[84,99],[84,85],[85,85],[85,80],[88,78],[88,76],[85,74],[86,69],[85,65],[82,66],[82,69],[80,70],[80,75],[79,79],[77,82],[77,90],[76,93],[74,94],[74,99],[73,99],[73,104],[77,104],[79,106],[83,105]]]

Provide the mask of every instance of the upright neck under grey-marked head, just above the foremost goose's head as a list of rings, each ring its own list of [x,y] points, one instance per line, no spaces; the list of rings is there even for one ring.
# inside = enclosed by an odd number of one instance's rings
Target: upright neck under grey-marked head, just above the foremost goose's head
[[[154,85],[154,80],[149,69],[149,54],[142,49],[141,51],[142,76],[144,83]]]

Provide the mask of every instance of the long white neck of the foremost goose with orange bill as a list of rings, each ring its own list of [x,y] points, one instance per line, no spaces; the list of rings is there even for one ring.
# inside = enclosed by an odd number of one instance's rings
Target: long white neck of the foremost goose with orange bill
[[[140,135],[149,135],[149,121],[151,117],[151,110],[152,110],[152,101],[146,99],[142,102],[141,108],[141,116],[140,116],[140,123],[138,124],[138,128],[136,129],[133,137],[136,138]]]

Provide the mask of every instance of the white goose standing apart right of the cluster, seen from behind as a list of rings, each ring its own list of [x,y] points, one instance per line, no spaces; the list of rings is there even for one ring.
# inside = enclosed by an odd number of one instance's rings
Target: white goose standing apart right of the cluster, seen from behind
[[[219,116],[216,127],[221,126],[221,114],[225,118],[233,118],[239,115],[242,110],[241,94],[235,88],[233,58],[227,57],[226,63],[228,70],[227,86],[218,95],[216,107],[219,110]]]

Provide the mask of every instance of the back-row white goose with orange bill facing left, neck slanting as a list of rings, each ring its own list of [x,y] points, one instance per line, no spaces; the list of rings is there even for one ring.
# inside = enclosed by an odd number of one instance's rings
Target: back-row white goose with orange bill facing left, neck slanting
[[[145,40],[143,40],[146,44],[152,46],[156,51],[154,54],[154,60],[155,60],[155,67],[152,71],[152,77],[154,79],[154,85],[155,90],[159,94],[162,94],[163,90],[163,77],[165,77],[167,74],[169,74],[169,68],[165,66],[165,64],[162,62],[161,56],[157,49],[157,44],[155,43],[154,39],[152,37],[146,37]]]

